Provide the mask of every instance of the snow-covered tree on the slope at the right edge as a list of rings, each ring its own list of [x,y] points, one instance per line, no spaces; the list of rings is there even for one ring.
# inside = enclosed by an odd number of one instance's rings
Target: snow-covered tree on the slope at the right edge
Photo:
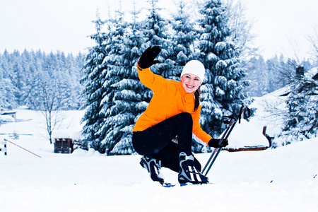
[[[298,66],[297,69],[302,69]],[[274,147],[318,135],[318,70],[290,76],[290,93],[286,100],[285,126]],[[279,142],[279,143],[278,143]]]

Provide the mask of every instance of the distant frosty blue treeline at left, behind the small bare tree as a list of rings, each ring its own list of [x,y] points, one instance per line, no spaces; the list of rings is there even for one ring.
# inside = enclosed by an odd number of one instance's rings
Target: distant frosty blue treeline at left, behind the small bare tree
[[[0,107],[4,110],[27,106],[42,110],[45,95],[59,95],[59,110],[78,110],[83,105],[85,55],[24,50],[0,54]]]

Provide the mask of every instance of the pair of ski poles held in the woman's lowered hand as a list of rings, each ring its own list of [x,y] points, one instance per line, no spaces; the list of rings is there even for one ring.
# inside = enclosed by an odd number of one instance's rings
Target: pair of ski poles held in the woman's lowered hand
[[[230,133],[231,133],[232,129],[234,128],[234,126],[235,126],[235,124],[237,122],[237,119],[240,122],[242,114],[245,114],[245,110],[247,110],[247,112],[248,112],[246,117],[250,116],[249,109],[247,107],[245,107],[244,105],[242,105],[242,107],[240,108],[240,112],[237,115],[237,118],[236,119],[232,118],[230,120],[230,123],[228,124],[228,127],[225,129],[225,132],[224,132],[223,136],[221,137],[219,144],[222,143],[223,140],[228,139],[228,136],[230,136]],[[216,158],[218,157],[218,154],[220,153],[221,150],[222,150],[222,148],[215,148],[214,149],[213,153],[211,154],[211,157],[208,159],[208,162],[206,163],[206,165],[204,166],[204,169],[202,170],[202,174],[203,175],[208,175],[208,171],[211,169],[213,163],[216,161]],[[207,170],[206,170],[206,167],[208,167]],[[205,170],[206,170],[206,173],[204,174]]]

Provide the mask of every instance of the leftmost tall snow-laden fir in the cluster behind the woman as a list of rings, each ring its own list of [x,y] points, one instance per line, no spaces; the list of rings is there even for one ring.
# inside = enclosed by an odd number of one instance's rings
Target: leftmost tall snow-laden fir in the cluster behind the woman
[[[86,113],[83,117],[83,134],[85,139],[82,141],[82,148],[94,148],[101,153],[105,152],[105,146],[102,145],[102,136],[100,132],[100,126],[105,117],[100,113],[102,110],[101,102],[104,93],[106,92],[103,83],[105,82],[105,76],[107,74],[107,64],[103,61],[107,55],[105,42],[110,40],[107,34],[102,33],[102,27],[105,25],[105,21],[100,19],[97,13],[97,19],[93,21],[95,23],[96,33],[91,35],[90,38],[95,40],[95,47],[89,49],[89,53],[86,56],[86,64],[84,65],[85,76],[83,78],[84,90],[83,95],[86,96]]]

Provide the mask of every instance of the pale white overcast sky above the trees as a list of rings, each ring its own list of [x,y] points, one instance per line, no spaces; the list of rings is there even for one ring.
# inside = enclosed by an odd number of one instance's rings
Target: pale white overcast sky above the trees
[[[159,0],[159,6],[165,8],[165,13],[174,11],[173,1]],[[241,1],[246,16],[255,22],[254,44],[264,57],[281,53],[289,57],[296,54],[300,59],[308,57],[311,45],[307,36],[318,29],[318,1]],[[131,2],[122,0],[124,11],[131,11]],[[143,8],[146,0],[136,0],[136,4]],[[85,52],[94,45],[88,35],[95,33],[92,20],[97,9],[105,19],[108,8],[114,11],[115,7],[119,7],[118,0],[0,0],[0,54],[4,49]]]

